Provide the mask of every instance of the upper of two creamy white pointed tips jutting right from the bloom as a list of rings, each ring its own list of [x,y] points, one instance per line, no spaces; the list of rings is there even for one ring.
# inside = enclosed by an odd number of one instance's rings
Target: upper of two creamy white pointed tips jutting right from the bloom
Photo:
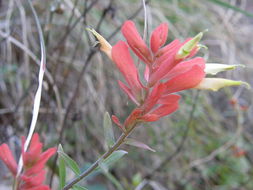
[[[244,65],[228,65],[228,64],[219,64],[219,63],[207,63],[205,67],[205,73],[216,75],[222,71],[233,70],[236,67],[245,67]]]

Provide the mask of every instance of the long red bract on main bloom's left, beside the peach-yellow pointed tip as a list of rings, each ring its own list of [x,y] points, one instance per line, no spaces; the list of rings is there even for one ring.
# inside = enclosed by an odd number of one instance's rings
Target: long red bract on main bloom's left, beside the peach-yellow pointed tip
[[[143,86],[139,80],[137,68],[125,42],[119,41],[112,47],[112,59],[126,79],[132,93],[135,96],[139,95]]]

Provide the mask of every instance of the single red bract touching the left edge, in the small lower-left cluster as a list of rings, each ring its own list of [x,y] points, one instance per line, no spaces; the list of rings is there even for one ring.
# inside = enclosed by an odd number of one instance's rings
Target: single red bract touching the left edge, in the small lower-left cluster
[[[5,163],[12,175],[15,176],[17,173],[17,162],[7,144],[0,146],[0,159]]]

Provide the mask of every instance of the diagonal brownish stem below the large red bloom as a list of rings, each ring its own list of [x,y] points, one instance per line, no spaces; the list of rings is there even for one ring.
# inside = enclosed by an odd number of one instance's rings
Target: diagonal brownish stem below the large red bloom
[[[125,139],[129,136],[129,134],[134,130],[136,125],[131,127],[126,133],[122,133],[118,140],[114,143],[114,145],[106,151],[99,159],[97,159],[96,162],[94,162],[87,170],[85,170],[83,173],[81,173],[79,176],[71,180],[67,185],[64,186],[62,190],[70,189],[73,185],[81,181],[83,178],[88,176],[91,172],[93,172],[97,167],[101,160],[108,158],[115,150],[117,150],[124,142]]]

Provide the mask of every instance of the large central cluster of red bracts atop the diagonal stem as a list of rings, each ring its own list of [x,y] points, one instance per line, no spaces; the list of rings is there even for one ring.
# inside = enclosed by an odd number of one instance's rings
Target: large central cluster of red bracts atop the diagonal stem
[[[119,41],[114,45],[111,58],[127,82],[126,85],[119,81],[120,87],[138,106],[123,125],[129,128],[136,122],[156,121],[176,111],[180,96],[172,93],[197,86],[205,77],[205,60],[201,57],[190,59],[199,49],[197,43],[189,52],[182,52],[185,51],[182,47],[191,39],[183,43],[176,39],[164,46],[168,34],[166,23],[152,32],[150,48],[132,21],[126,21],[121,31],[127,42]],[[129,47],[146,65],[145,84],[140,80]],[[112,119],[120,125],[116,116]]]

